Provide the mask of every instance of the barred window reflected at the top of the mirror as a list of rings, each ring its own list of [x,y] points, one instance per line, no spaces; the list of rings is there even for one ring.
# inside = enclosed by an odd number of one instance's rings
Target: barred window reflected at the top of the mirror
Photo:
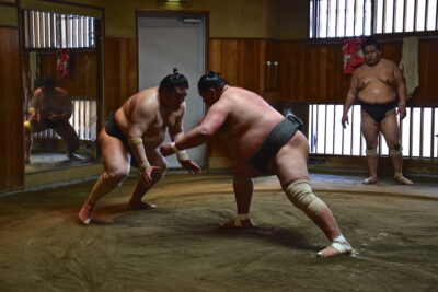
[[[24,10],[26,49],[95,47],[93,17]]]

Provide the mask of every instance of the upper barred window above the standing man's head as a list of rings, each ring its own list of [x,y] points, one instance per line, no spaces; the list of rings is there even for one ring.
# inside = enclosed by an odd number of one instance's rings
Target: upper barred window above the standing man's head
[[[438,30],[438,0],[310,0],[310,38]]]

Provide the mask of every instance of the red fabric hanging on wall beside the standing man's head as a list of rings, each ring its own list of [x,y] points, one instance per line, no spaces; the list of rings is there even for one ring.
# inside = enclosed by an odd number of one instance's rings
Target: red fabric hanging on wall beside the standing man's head
[[[364,63],[364,52],[360,47],[364,42],[364,36],[344,40],[342,48],[344,59],[344,73],[353,74],[356,68]]]

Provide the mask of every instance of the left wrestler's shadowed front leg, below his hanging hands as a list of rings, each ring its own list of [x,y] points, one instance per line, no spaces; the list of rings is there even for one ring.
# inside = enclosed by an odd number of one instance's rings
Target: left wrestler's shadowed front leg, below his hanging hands
[[[158,149],[146,150],[146,155],[148,161],[153,166],[159,166],[160,170],[152,173],[152,183],[148,184],[145,176],[141,175],[137,183],[137,186],[132,192],[132,197],[129,200],[128,208],[130,209],[150,209],[155,208],[155,205],[142,201],[142,197],[149,191],[161,178],[164,177],[168,170],[168,163],[165,159],[161,155]]]

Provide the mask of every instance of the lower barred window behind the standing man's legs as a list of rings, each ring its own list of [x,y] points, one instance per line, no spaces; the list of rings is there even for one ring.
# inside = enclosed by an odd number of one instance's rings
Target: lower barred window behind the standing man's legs
[[[360,131],[360,105],[349,109],[349,125],[341,125],[343,105],[309,105],[310,153],[326,155],[364,156],[365,139]],[[404,157],[438,157],[438,107],[408,107],[401,126]],[[379,137],[379,154],[389,155],[382,136]]]

